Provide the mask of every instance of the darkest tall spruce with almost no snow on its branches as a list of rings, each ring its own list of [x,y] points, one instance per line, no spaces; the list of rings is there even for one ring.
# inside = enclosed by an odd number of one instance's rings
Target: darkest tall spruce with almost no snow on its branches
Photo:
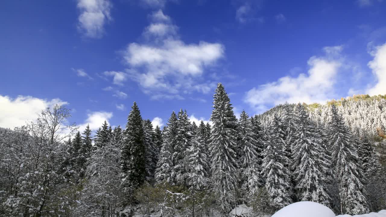
[[[141,112],[134,102],[127,117],[124,132],[124,145],[121,151],[121,169],[123,185],[125,187],[138,187],[146,177],[146,146],[143,141],[144,129],[142,126]],[[129,189],[126,189],[129,190]]]

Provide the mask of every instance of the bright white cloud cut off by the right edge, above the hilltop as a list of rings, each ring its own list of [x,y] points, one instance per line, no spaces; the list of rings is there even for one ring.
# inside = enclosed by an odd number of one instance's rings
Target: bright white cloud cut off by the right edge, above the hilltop
[[[369,95],[386,94],[386,43],[376,47],[371,53],[374,59],[367,65],[376,76],[377,83],[367,90]]]

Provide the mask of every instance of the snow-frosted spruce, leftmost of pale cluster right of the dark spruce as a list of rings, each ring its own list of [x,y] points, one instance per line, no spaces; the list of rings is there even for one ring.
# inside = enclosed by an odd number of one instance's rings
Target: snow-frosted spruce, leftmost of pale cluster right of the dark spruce
[[[177,123],[177,115],[173,111],[171,116],[168,120],[168,126],[164,127],[162,132],[162,147],[161,151],[159,153],[159,159],[157,163],[157,169],[156,169],[156,181],[158,183],[162,183],[164,181],[175,184],[172,172],[174,169],[174,159],[173,159],[173,153],[174,153],[174,146],[177,144],[177,130],[178,130],[178,123]]]

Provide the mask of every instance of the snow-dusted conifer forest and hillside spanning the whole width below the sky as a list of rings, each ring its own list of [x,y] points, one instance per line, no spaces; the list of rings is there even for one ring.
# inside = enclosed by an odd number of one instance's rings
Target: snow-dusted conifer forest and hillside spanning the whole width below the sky
[[[219,83],[212,125],[171,112],[160,129],[134,102],[124,128],[68,124],[56,105],[0,128],[0,216],[255,216],[298,201],[335,214],[386,209],[386,95],[234,115]]]

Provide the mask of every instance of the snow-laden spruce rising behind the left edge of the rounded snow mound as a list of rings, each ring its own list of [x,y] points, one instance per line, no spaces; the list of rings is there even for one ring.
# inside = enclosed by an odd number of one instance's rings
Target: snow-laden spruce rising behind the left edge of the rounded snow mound
[[[293,202],[293,191],[290,184],[290,171],[284,166],[288,162],[286,157],[284,132],[281,129],[281,120],[274,114],[267,130],[266,149],[263,151],[261,174],[266,180],[265,187],[273,207],[281,209]]]

